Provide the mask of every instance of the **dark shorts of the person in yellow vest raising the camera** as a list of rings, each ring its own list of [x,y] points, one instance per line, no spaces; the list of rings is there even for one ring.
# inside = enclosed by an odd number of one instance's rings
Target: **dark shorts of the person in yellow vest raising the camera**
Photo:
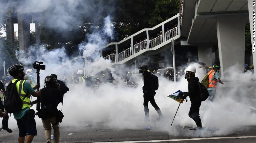
[[[36,135],[35,119],[28,119],[27,113],[21,119],[17,119],[17,125],[19,128],[19,137]]]

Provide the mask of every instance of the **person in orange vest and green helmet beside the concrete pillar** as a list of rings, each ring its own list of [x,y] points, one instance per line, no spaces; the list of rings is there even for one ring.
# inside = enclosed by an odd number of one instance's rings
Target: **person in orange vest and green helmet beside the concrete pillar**
[[[216,88],[217,88],[217,83],[219,82],[220,84],[224,84],[219,76],[219,70],[221,69],[221,66],[217,64],[213,64],[213,69],[209,71],[208,78],[209,78],[209,87],[207,88],[209,92],[209,100],[213,101],[215,94],[216,94]]]

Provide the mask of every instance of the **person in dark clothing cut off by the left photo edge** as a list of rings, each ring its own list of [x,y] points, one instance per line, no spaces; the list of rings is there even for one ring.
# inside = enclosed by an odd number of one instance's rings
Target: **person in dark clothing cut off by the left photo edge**
[[[3,80],[3,78],[2,78]],[[3,104],[3,101],[4,101],[4,93],[5,93],[5,86],[3,84],[2,81],[0,81],[0,110],[1,112],[5,112],[4,111],[4,104]],[[3,129],[3,130],[6,130],[8,133],[11,133],[12,130],[8,128],[8,121],[9,121],[9,116],[5,116],[3,117],[3,120],[2,120],[2,128],[0,128],[0,131]]]

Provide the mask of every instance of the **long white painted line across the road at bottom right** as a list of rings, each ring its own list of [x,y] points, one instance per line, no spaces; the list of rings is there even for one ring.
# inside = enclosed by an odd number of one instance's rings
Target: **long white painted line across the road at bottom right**
[[[256,136],[205,137],[205,138],[188,138],[188,139],[141,140],[141,141],[113,141],[113,142],[94,142],[94,143],[143,143],[143,142],[167,142],[167,141],[189,141],[189,140],[233,139],[233,138],[256,138]]]

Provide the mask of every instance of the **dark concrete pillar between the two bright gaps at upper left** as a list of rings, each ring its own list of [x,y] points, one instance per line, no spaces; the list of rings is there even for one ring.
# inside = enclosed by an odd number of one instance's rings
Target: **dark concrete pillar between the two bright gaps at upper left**
[[[19,49],[25,50],[30,46],[30,23],[26,14],[18,13]]]

